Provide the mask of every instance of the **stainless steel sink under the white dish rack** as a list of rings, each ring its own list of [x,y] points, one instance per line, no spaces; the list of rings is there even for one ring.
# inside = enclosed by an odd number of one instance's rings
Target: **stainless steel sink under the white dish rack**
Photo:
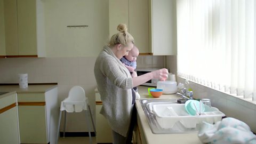
[[[152,113],[153,105],[161,104],[177,104],[176,99],[141,99],[140,100],[142,109],[147,117],[150,129],[155,134],[165,134],[165,133],[191,133],[198,132],[198,126],[193,129],[187,129],[180,122],[175,123],[171,129],[163,129],[156,120],[154,113]]]

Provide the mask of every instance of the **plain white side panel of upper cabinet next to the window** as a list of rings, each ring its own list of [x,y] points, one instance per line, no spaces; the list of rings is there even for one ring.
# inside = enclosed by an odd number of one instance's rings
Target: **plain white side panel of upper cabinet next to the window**
[[[177,55],[176,1],[149,1],[149,43],[153,55]]]

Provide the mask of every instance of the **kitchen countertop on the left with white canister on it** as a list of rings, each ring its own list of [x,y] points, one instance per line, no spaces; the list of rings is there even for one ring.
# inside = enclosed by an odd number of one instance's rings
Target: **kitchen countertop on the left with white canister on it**
[[[36,83],[36,84],[28,84],[27,89],[20,89],[19,84],[0,84],[0,91],[1,92],[15,91],[17,93],[45,93],[56,86],[58,86],[58,83]]]

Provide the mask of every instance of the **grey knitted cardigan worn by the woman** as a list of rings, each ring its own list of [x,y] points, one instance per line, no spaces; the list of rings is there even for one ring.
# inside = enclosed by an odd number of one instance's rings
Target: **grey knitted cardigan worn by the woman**
[[[129,70],[104,46],[95,66],[94,76],[102,100],[100,114],[115,132],[126,137],[132,112],[132,77]]]

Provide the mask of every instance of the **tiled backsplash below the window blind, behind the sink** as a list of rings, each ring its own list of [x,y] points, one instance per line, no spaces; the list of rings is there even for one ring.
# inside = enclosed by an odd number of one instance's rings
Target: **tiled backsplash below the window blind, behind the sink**
[[[185,83],[185,79],[177,77],[178,83]],[[245,122],[256,133],[256,101],[246,101],[232,95],[211,89],[207,86],[189,82],[194,92],[194,98],[209,98],[213,107],[217,107],[227,117],[234,117]]]

